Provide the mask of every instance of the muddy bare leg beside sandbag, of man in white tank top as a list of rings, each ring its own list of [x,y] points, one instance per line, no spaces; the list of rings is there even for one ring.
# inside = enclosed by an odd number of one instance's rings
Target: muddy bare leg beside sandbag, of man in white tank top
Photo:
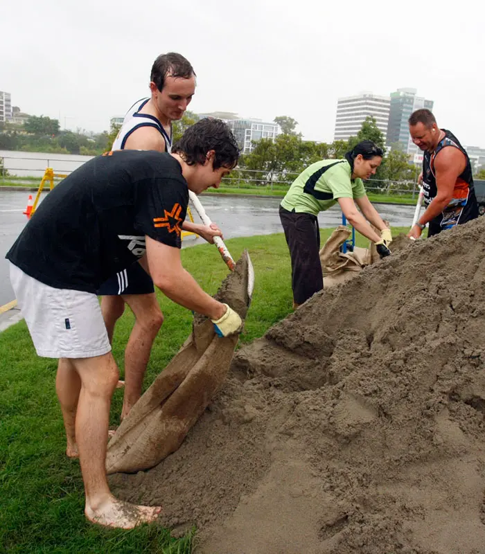
[[[121,419],[130,412],[141,396],[143,377],[150,359],[152,344],[164,323],[155,292],[127,294],[124,301],[135,316],[135,323],[125,350],[125,395]]]

